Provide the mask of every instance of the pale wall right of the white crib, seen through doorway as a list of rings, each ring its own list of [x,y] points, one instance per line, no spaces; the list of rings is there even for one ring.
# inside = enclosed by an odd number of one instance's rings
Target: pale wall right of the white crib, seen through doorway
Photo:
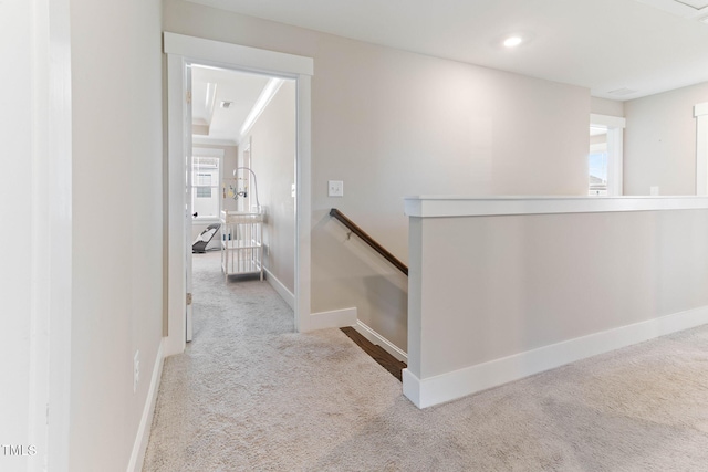
[[[251,169],[267,212],[266,269],[291,293],[295,291],[295,199],[291,192],[295,181],[295,82],[285,81],[249,133]]]

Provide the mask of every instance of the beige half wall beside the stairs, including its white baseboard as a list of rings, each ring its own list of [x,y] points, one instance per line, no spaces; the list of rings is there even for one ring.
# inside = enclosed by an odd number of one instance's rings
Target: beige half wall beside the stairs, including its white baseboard
[[[490,200],[499,216],[410,218],[404,391],[418,406],[708,322],[707,198],[563,213],[562,198]]]

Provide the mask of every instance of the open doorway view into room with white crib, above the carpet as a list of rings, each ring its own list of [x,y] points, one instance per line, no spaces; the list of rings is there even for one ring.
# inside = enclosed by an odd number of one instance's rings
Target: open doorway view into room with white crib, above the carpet
[[[201,251],[187,258],[211,261],[227,283],[264,276],[294,310],[296,83],[198,62],[188,64],[188,73],[191,235],[210,238],[205,251],[220,251],[221,266]],[[216,233],[215,224],[221,225]],[[199,296],[189,280],[187,287]],[[188,312],[188,342],[190,326]]]

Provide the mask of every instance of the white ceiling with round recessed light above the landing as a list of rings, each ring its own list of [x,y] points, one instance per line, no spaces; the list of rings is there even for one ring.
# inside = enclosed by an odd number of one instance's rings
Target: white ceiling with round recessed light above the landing
[[[708,81],[708,0],[190,0],[632,99]],[[524,42],[501,42],[520,34]]]

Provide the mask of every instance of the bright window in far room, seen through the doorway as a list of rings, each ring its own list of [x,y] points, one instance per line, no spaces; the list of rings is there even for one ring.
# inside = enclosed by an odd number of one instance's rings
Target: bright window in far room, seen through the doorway
[[[195,149],[195,154],[197,149]],[[191,164],[191,212],[198,219],[219,218],[220,158],[192,156]]]

